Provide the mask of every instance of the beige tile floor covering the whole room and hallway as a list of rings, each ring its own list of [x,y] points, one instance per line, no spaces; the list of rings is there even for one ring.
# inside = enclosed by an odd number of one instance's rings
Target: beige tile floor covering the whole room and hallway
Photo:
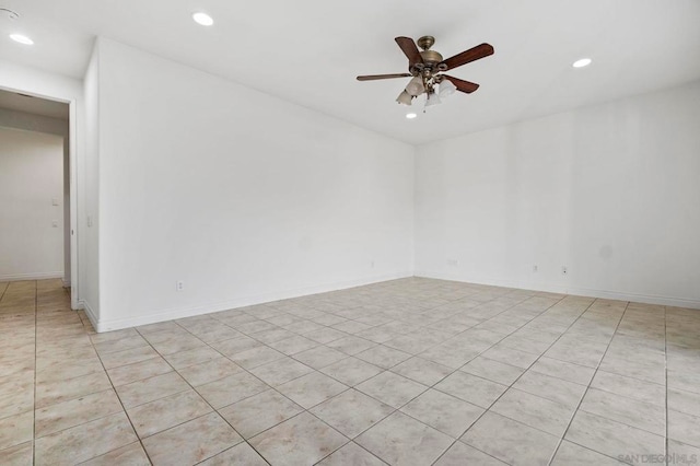
[[[2,465],[700,461],[700,311],[412,278],[95,334],[0,295]]]

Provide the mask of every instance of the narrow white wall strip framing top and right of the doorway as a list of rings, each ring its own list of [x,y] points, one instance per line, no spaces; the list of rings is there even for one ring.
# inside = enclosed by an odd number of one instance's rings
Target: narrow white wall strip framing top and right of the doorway
[[[78,265],[71,270],[71,305],[79,307],[84,298],[79,283],[82,284],[92,279],[85,273],[86,268],[83,265],[86,261],[97,260],[95,255],[88,254],[80,236],[85,221],[84,200],[88,198],[84,193],[85,178],[82,170],[85,132],[82,81],[0,60],[0,88],[70,103],[70,199],[71,210],[74,212],[71,218],[71,230],[75,232],[71,237],[71,241],[75,242],[71,247],[71,261]]]

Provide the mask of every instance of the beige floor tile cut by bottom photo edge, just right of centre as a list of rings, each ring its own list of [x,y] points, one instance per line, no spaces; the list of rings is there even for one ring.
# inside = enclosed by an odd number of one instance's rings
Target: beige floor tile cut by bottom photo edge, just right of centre
[[[392,465],[432,464],[453,440],[401,412],[395,412],[357,440],[364,448]]]

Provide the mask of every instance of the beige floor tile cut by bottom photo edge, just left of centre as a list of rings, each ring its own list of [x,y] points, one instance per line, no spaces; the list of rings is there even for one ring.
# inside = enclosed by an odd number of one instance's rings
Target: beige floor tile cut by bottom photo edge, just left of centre
[[[250,445],[272,466],[312,465],[348,439],[307,412],[295,416],[250,440]]]

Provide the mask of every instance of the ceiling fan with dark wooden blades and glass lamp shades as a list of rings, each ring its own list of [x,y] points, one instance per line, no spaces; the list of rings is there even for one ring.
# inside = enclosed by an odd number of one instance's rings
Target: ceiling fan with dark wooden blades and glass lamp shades
[[[407,73],[360,75],[358,81],[374,81],[380,79],[411,78],[406,89],[396,98],[404,105],[411,105],[413,98],[425,94],[425,106],[440,104],[441,97],[453,94],[455,91],[472,93],[479,89],[479,84],[443,74],[463,65],[493,55],[493,47],[481,44],[468,50],[443,60],[442,55],[430,47],[435,43],[433,36],[423,36],[413,42],[410,37],[396,37],[396,43],[408,57]],[[418,47],[422,51],[418,50]],[[439,90],[435,90],[435,86]]]

